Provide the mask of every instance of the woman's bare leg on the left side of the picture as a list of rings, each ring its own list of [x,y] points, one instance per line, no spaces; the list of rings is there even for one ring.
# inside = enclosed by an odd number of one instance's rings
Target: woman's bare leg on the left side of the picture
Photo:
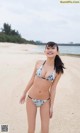
[[[27,111],[27,120],[28,120],[28,133],[34,133],[35,124],[36,124],[37,107],[34,105],[32,100],[28,97],[26,100],[26,111]]]

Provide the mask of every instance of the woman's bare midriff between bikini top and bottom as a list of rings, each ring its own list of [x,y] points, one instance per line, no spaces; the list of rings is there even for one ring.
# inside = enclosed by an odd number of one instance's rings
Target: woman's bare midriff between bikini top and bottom
[[[34,83],[31,86],[28,95],[30,95],[34,99],[47,99],[50,96],[49,88],[50,83],[45,79],[40,79],[36,77],[34,79]]]

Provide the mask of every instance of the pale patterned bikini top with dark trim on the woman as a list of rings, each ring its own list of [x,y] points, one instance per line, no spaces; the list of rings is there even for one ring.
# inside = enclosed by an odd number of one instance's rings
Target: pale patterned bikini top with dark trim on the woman
[[[44,61],[43,64],[37,69],[36,75],[40,78],[43,78],[43,79],[46,79],[46,80],[53,82],[53,80],[55,79],[55,75],[56,75],[55,69],[47,78],[41,76],[42,68],[43,68],[43,65],[45,64],[45,62],[46,61]]]

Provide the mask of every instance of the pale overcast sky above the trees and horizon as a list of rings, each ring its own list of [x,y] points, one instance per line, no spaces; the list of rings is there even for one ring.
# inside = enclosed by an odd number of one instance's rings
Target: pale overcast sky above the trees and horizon
[[[27,40],[80,43],[80,3],[0,0],[0,28],[4,23]]]

